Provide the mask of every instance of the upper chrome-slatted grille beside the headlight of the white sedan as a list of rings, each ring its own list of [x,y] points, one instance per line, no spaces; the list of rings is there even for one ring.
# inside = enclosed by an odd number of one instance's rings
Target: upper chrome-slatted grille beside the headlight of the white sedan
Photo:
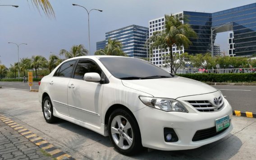
[[[222,96],[219,96],[219,105],[217,107],[213,106],[208,100],[189,100],[187,102],[200,112],[214,112],[224,107]]]

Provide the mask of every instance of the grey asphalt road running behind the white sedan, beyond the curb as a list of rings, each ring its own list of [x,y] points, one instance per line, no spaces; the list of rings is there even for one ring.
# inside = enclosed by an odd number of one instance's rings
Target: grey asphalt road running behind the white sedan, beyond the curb
[[[30,87],[23,82],[0,82],[6,88],[27,89]],[[233,110],[256,113],[256,86],[213,86],[228,99]],[[38,82],[34,82],[32,89],[38,89]]]

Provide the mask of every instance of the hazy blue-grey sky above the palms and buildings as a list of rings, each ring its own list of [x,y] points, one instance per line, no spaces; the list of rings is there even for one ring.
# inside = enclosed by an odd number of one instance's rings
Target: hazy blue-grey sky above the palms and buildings
[[[28,1],[28,2],[27,2]],[[14,43],[27,43],[19,48],[19,57],[45,56],[50,52],[69,49],[83,44],[88,49],[88,17],[85,9],[102,9],[90,13],[91,54],[96,42],[105,39],[105,32],[124,26],[148,27],[148,21],[165,14],[181,11],[213,13],[246,4],[255,0],[50,0],[56,20],[33,9],[31,0],[0,0],[2,4],[19,5],[18,8],[0,6],[0,61],[10,67],[18,61]],[[227,51],[228,34],[217,35],[221,51]]]

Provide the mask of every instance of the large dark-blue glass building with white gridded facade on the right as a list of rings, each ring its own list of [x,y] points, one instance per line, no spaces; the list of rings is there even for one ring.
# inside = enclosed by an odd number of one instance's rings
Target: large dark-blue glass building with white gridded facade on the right
[[[189,48],[178,49],[173,46],[173,52],[188,52],[189,54],[211,52],[211,39],[214,43],[217,33],[233,31],[232,47],[229,46],[230,56],[250,56],[256,53],[256,3],[215,13],[183,11],[173,15],[176,17],[186,15],[187,20],[184,23],[190,24],[198,36],[196,39],[190,39],[192,45]],[[163,30],[164,22],[165,17],[150,20],[150,36],[156,30]],[[162,61],[159,53],[156,54],[160,50],[156,48],[154,51],[153,63],[160,65]]]

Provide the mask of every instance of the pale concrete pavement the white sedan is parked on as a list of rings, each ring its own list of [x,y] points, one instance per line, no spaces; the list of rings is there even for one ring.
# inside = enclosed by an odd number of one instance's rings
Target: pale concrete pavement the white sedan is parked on
[[[255,160],[256,157],[256,118],[233,117],[234,129],[229,135],[197,149],[145,150],[136,156],[123,156],[114,150],[109,137],[64,120],[46,123],[37,92],[0,88],[0,102],[1,114],[77,160]]]

